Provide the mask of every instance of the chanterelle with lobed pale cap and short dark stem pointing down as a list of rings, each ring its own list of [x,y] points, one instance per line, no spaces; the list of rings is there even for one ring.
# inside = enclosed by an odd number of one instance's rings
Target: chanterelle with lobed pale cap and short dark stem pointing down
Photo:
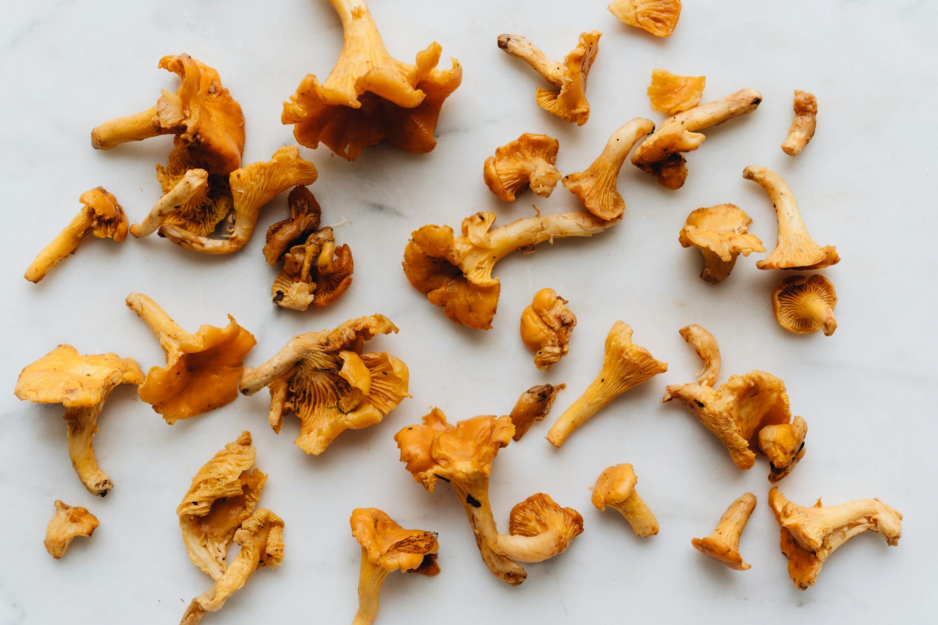
[[[733,204],[698,208],[688,215],[677,240],[681,247],[693,246],[701,251],[701,278],[718,284],[729,277],[739,254],[765,252],[759,237],[749,234],[750,223],[749,215]]]

